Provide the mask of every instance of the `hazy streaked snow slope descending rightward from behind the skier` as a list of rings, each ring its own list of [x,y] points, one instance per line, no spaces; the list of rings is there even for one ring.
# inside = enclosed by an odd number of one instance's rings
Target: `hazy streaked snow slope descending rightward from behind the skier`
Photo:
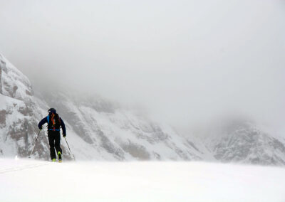
[[[65,120],[76,156],[86,153],[93,159],[120,161],[202,159],[201,153],[170,127],[136,116],[115,103],[78,99],[67,93],[45,96],[38,100],[56,107]]]

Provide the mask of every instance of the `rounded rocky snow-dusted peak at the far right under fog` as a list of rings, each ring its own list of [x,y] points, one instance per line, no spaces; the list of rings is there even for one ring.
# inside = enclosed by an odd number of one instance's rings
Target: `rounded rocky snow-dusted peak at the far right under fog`
[[[224,162],[285,165],[284,140],[262,132],[249,122],[230,124],[207,143],[214,157]]]

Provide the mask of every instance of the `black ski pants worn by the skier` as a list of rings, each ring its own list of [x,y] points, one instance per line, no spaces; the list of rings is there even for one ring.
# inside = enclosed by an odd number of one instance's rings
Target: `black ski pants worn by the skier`
[[[61,151],[61,133],[59,131],[48,131],[48,142],[51,151],[51,159],[56,159],[56,154]],[[56,151],[55,151],[56,149]]]

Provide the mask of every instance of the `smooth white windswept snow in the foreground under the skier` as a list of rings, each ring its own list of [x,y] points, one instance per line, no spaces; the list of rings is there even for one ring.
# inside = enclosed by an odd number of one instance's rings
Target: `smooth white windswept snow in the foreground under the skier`
[[[0,159],[0,201],[285,201],[285,169],[202,162]]]

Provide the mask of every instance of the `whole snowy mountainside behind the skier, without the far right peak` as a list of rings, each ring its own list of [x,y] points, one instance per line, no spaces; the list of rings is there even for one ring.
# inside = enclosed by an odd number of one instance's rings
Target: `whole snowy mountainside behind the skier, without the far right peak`
[[[1,156],[28,156],[38,133],[38,122],[47,115],[48,108],[56,107],[66,122],[67,139],[77,159],[202,159],[170,127],[162,128],[107,100],[81,99],[54,90],[45,97],[35,97],[28,78],[2,55],[0,84]],[[61,147],[63,158],[71,159],[66,142],[61,141]],[[49,159],[46,132],[41,132],[33,156]]]

